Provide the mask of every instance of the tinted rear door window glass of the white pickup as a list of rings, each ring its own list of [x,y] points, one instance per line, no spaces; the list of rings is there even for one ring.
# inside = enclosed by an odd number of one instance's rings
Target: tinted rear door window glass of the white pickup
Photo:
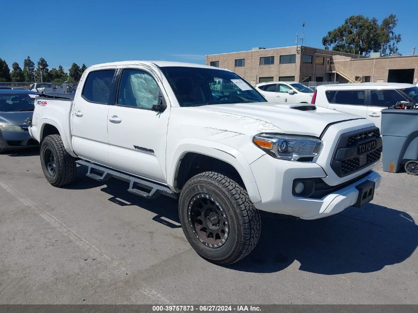
[[[115,70],[90,72],[84,84],[82,96],[87,101],[107,104]]]

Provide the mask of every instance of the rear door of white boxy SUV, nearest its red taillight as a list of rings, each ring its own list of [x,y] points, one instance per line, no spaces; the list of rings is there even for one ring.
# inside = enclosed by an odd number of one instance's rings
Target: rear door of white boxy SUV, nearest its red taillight
[[[366,90],[326,90],[328,109],[367,118]]]

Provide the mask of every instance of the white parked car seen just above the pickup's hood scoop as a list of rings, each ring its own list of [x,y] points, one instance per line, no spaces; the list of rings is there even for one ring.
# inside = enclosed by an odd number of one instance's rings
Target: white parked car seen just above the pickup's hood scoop
[[[314,90],[297,82],[269,82],[255,87],[270,102],[311,103]]]

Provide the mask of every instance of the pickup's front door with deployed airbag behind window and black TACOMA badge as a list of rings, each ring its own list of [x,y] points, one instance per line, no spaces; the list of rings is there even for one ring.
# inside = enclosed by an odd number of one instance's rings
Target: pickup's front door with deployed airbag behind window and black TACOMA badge
[[[163,112],[151,110],[159,91],[148,72],[123,70],[116,105],[108,112],[109,162],[125,172],[166,182],[170,106]]]

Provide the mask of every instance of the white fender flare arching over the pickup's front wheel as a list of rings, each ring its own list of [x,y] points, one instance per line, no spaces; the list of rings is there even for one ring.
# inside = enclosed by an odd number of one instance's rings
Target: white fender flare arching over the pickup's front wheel
[[[196,138],[182,139],[173,154],[167,155],[167,160],[173,160],[172,163],[167,163],[167,183],[172,190],[180,191],[175,188],[176,177],[184,156],[189,152],[207,155],[230,164],[244,182],[251,201],[253,203],[261,201],[250,164],[241,152],[222,143]]]

